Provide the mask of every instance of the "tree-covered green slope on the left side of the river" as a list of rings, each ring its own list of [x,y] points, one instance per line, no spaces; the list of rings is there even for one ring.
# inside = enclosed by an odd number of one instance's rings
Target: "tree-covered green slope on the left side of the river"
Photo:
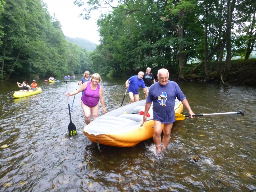
[[[0,0],[0,79],[82,74],[88,52],[65,39],[41,0]]]

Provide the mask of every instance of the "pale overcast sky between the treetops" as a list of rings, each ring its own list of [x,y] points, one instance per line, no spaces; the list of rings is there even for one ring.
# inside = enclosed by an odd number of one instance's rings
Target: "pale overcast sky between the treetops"
[[[92,12],[91,19],[84,20],[79,17],[83,12],[81,7],[73,4],[74,0],[43,0],[48,6],[50,15],[60,21],[62,31],[65,36],[72,38],[80,37],[87,39],[95,44],[100,44],[99,33],[97,27],[97,19],[100,16],[100,11]],[[105,9],[105,11],[107,11]]]

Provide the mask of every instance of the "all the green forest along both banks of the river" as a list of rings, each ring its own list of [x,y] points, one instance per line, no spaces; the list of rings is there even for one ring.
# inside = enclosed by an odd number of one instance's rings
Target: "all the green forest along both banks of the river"
[[[230,80],[232,61],[256,74],[255,0],[75,0],[88,19],[99,7],[100,45],[87,52],[65,39],[41,0],[0,0],[0,78],[95,71],[130,76],[167,68],[180,79]],[[243,62],[244,61],[244,62]],[[249,62],[248,62],[249,61]],[[203,74],[202,74],[203,69]],[[255,76],[255,75],[254,75]]]

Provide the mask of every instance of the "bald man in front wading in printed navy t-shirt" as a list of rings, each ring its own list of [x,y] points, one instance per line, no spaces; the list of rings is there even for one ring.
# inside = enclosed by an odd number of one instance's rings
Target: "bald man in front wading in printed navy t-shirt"
[[[156,153],[166,149],[170,141],[172,124],[175,122],[175,99],[177,97],[188,110],[191,118],[195,115],[191,110],[188,100],[177,83],[169,81],[169,72],[167,69],[159,69],[157,73],[158,82],[151,85],[146,100],[143,123],[147,121],[147,113],[153,102],[153,120],[154,120],[154,143],[156,145]],[[161,145],[162,124],[164,124],[164,137]]]

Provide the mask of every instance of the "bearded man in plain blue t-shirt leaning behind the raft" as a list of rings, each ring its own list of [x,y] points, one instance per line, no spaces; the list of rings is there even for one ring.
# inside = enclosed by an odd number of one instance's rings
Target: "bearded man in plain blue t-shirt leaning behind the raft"
[[[143,71],[140,71],[138,75],[132,76],[130,79],[128,79],[125,82],[125,87],[128,91],[128,95],[130,97],[131,103],[139,101],[139,88],[142,87],[142,89],[145,92],[145,97],[147,99],[148,92],[146,90],[146,86],[144,84],[144,81],[142,80],[144,73]]]

